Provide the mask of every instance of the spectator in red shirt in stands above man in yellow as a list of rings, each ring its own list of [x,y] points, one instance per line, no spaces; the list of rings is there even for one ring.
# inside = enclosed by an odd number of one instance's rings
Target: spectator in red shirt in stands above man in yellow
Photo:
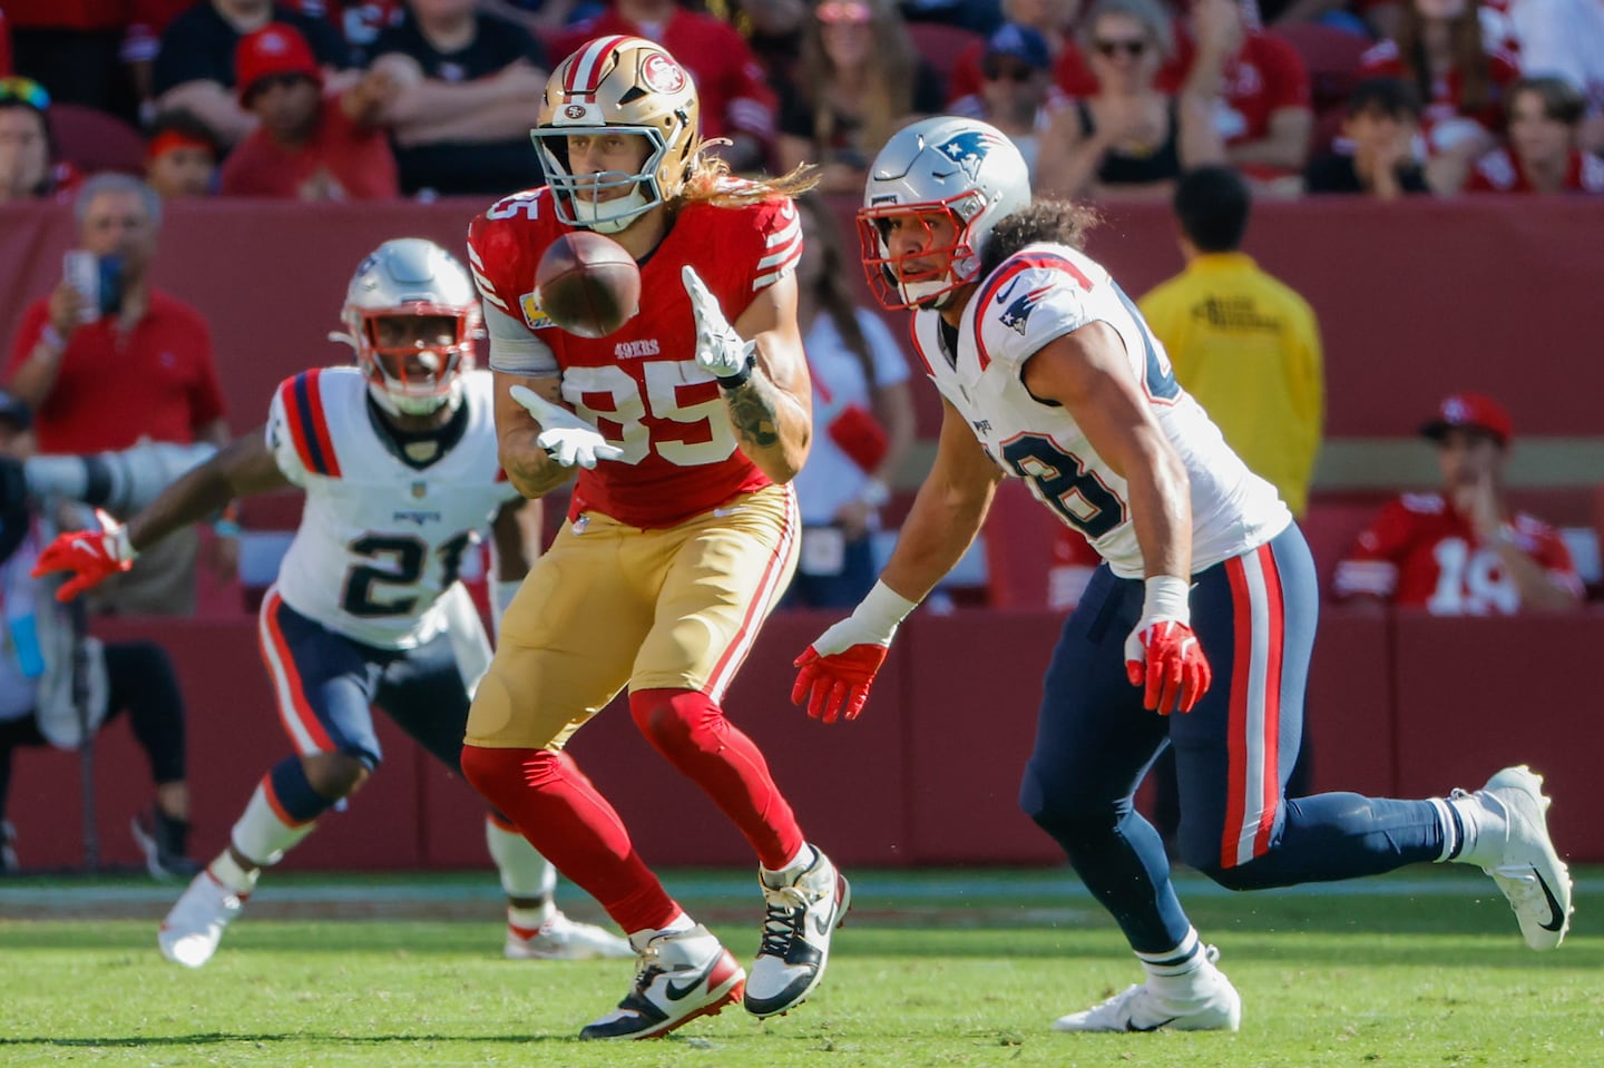
[[[1296,178],[1309,162],[1314,133],[1309,69],[1285,38],[1266,32],[1237,0],[1193,0],[1177,27],[1177,56],[1158,85],[1179,91],[1198,56],[1225,59],[1217,69],[1214,123],[1225,160],[1253,180]]]

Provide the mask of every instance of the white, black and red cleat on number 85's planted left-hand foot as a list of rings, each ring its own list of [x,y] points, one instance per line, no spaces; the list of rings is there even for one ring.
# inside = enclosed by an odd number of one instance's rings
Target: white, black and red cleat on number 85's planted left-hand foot
[[[642,938],[642,935],[637,935]],[[650,938],[638,953],[635,983],[618,1009],[592,1020],[582,1039],[658,1038],[696,1017],[719,1015],[741,996],[746,972],[703,925]]]

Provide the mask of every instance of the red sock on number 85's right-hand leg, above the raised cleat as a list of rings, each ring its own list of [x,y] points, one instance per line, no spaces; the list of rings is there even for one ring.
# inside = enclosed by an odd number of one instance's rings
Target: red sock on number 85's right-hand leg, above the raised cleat
[[[772,871],[802,848],[802,827],[780,794],[768,762],[711,698],[690,690],[629,694],[635,726],[723,810]]]

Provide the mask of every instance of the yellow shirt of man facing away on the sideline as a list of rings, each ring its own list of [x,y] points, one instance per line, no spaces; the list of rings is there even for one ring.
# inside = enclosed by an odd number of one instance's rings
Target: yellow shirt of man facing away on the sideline
[[[1137,303],[1181,385],[1301,516],[1325,423],[1320,326],[1309,301],[1253,257],[1217,252],[1195,257]]]

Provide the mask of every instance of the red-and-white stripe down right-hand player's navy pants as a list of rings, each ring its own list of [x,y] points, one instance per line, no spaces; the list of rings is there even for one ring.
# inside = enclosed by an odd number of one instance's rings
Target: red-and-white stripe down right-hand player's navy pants
[[[1270,547],[1225,561],[1235,617],[1221,868],[1269,848],[1280,810],[1282,584]]]

